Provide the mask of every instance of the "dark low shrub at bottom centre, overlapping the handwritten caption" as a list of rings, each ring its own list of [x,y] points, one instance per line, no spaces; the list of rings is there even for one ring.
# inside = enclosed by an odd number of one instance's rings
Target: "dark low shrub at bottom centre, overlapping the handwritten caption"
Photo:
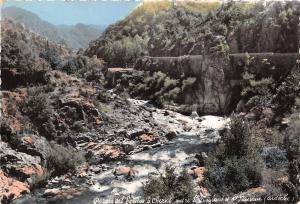
[[[150,198],[161,198],[175,200],[185,200],[190,203],[193,198],[193,184],[186,171],[175,174],[175,168],[167,166],[164,174],[158,178],[151,178],[144,185],[144,194]]]

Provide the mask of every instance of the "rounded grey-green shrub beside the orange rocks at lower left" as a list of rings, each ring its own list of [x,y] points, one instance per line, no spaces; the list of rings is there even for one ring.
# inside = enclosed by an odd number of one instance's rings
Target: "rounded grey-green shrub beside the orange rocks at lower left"
[[[51,144],[46,157],[47,168],[54,175],[61,175],[73,171],[85,162],[83,154],[71,146],[64,147],[59,144]]]

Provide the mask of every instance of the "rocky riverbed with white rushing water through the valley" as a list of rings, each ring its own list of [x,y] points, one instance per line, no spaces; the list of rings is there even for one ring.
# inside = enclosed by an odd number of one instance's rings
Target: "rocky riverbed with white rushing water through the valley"
[[[77,145],[78,149],[86,148],[97,154],[101,151],[111,153],[107,162],[93,164],[89,167],[81,167],[76,175],[67,174],[49,180],[45,188],[36,191],[33,195],[25,196],[14,203],[48,202],[54,203],[92,203],[93,199],[116,199],[118,196],[142,196],[143,184],[149,176],[157,176],[163,172],[167,165],[177,167],[177,171],[188,170],[194,178],[195,190],[207,196],[207,190],[198,185],[203,180],[204,167],[199,158],[214,149],[219,139],[219,130],[225,128],[228,120],[217,116],[191,117],[176,112],[157,109],[149,105],[147,101],[129,99],[130,107],[143,110],[149,116],[144,118],[154,120],[155,126],[140,121],[140,125],[148,128],[156,127],[160,132],[152,132],[140,129],[115,129],[127,136],[128,152],[119,152],[120,149],[111,149],[107,142],[89,141]],[[115,115],[114,112],[108,117]],[[133,112],[138,116],[139,112]],[[122,115],[124,116],[124,115]],[[130,122],[129,120],[126,120]],[[132,121],[133,122],[133,121]],[[83,134],[84,135],[84,134]],[[82,137],[83,137],[82,135]],[[89,133],[85,134],[88,137]],[[116,137],[110,137],[119,141]],[[93,143],[93,144],[91,144]],[[114,142],[111,141],[111,144]],[[123,143],[123,145],[126,142]],[[87,147],[87,145],[90,147]],[[93,147],[99,148],[93,150]],[[89,149],[87,149],[89,148]],[[115,156],[123,155],[119,161],[112,161]],[[200,162],[200,163],[199,163]],[[89,196],[87,196],[89,195]],[[47,198],[47,199],[45,199]]]

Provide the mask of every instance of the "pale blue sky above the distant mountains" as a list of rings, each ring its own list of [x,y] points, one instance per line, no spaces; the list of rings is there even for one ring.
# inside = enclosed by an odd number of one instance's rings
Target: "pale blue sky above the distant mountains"
[[[126,17],[142,0],[7,0],[3,7],[17,6],[54,25],[77,23],[109,25]]]

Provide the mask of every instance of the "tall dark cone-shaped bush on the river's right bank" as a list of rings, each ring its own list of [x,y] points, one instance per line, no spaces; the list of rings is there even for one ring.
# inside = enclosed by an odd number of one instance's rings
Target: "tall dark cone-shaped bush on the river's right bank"
[[[230,128],[206,167],[205,185],[213,194],[228,195],[259,186],[263,162],[261,147],[249,125],[237,116],[231,117]]]

